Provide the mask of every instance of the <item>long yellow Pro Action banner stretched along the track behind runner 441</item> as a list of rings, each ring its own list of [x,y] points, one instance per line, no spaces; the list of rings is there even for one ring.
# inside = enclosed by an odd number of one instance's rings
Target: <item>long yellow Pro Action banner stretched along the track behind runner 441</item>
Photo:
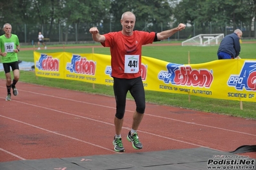
[[[113,85],[110,55],[34,52],[37,76]],[[167,93],[256,102],[256,61],[225,59],[180,65],[142,56],[144,88]]]

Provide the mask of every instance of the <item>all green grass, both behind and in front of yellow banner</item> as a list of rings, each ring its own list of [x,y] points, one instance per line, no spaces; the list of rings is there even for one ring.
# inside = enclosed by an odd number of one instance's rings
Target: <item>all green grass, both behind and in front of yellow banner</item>
[[[161,42],[159,42],[161,43]],[[177,43],[177,42],[174,42]],[[83,45],[89,46],[92,44]],[[93,45],[100,45],[94,43]],[[67,46],[67,45],[65,45]],[[28,47],[28,46],[26,46]],[[30,46],[31,47],[31,46]],[[62,52],[64,49],[51,49],[54,46],[47,46],[47,50],[40,50],[40,52]],[[241,58],[256,59],[256,43],[242,43],[241,44]],[[22,50],[19,52],[19,59],[22,61],[33,62],[33,50]],[[182,47],[180,46],[144,46],[142,48],[142,56],[148,56],[151,58],[157,58],[171,63],[187,64],[188,55],[190,55],[191,64],[206,63],[217,59],[218,46],[211,47]],[[92,48],[81,49],[65,49],[65,52],[74,53],[92,53]],[[98,54],[110,54],[109,48],[94,48],[94,53]],[[225,70],[223,70],[224,72]],[[0,72],[0,79],[4,78],[4,72]],[[40,84],[42,86],[52,86],[56,88],[73,89],[77,91],[83,91],[86,93],[96,93],[101,95],[114,96],[112,86],[105,86],[95,84],[95,88],[92,88],[92,84],[79,81],[68,81],[62,79],[49,79],[44,77],[36,77],[33,71],[21,71],[22,82],[28,82],[32,84]],[[128,98],[131,95],[128,94]],[[216,114],[227,114],[230,116],[238,116],[242,118],[252,118],[256,120],[256,103],[255,102],[243,102],[243,110],[239,107],[238,101],[232,100],[218,100],[214,98],[203,98],[191,96],[191,102],[187,95],[180,95],[174,93],[161,93],[158,91],[146,91],[146,101],[160,104],[171,105],[174,107],[182,107],[187,109],[194,109],[203,112],[214,112]]]

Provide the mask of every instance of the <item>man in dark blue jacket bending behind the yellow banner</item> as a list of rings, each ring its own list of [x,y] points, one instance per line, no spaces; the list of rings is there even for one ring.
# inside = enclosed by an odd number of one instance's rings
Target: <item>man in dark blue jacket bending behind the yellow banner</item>
[[[235,29],[234,33],[226,35],[217,52],[218,59],[234,59],[240,58],[239,53],[241,50],[240,42],[243,32],[240,29]]]

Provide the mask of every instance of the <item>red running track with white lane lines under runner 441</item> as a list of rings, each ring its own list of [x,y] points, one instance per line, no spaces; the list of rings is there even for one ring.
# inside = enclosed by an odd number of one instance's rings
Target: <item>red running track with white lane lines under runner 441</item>
[[[19,82],[5,101],[0,79],[0,162],[117,154],[113,150],[114,97]],[[234,151],[256,144],[256,121],[147,104],[134,150],[126,140],[135,104],[128,100],[122,130],[125,153],[205,147]],[[123,154],[123,153],[120,153]],[[243,153],[256,158],[255,152]]]

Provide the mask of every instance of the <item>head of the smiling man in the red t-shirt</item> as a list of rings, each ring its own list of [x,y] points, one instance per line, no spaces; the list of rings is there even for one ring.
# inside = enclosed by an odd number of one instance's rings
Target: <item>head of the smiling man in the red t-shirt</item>
[[[124,33],[126,33],[126,35],[131,35],[135,26],[135,16],[124,15],[123,19],[121,19],[121,25],[123,26]]]

